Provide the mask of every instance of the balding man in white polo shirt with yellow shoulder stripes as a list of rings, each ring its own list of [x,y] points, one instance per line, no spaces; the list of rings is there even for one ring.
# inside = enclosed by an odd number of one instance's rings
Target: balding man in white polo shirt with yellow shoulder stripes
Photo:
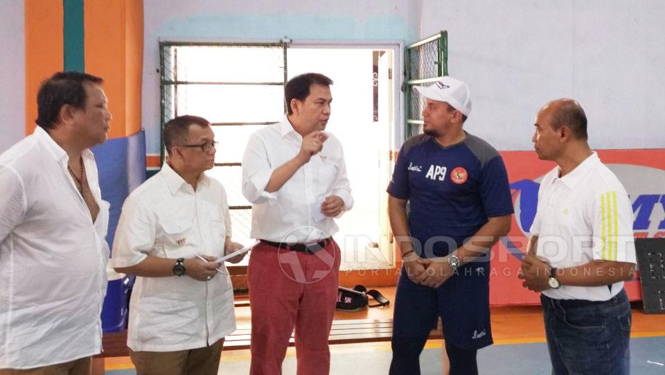
[[[535,152],[558,166],[538,191],[523,285],[540,297],[553,374],[629,374],[635,272],[626,189],[587,143],[579,103],[548,103],[535,122]]]

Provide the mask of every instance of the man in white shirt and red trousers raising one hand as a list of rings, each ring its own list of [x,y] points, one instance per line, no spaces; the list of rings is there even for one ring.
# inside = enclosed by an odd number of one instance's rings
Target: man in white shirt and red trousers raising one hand
[[[351,209],[342,144],[326,130],[332,80],[305,73],[287,82],[287,115],[251,135],[242,194],[251,202],[251,369],[281,374],[295,328],[297,373],[328,374],[340,253],[334,218]]]

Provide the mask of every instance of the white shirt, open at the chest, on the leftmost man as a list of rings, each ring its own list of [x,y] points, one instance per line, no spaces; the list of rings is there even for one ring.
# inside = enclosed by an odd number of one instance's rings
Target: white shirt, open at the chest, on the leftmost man
[[[69,157],[37,126],[0,155],[0,368],[42,367],[98,354],[109,247],[109,203],[82,152],[90,211]]]

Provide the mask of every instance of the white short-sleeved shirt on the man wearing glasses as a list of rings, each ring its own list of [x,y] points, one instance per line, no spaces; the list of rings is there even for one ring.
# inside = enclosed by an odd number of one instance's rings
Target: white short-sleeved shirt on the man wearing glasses
[[[125,200],[113,244],[114,268],[148,255],[175,259],[224,255],[231,219],[224,187],[205,173],[196,191],[164,164]],[[134,351],[179,351],[212,345],[236,329],[233,288],[224,274],[136,277],[127,346]]]

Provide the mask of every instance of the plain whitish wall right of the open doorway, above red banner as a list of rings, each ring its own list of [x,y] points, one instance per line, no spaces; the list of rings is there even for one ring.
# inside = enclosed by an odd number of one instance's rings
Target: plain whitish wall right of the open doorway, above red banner
[[[448,31],[465,128],[499,150],[531,150],[535,114],[560,97],[584,107],[593,148],[664,148],[664,19],[657,0],[424,0],[420,35]]]

